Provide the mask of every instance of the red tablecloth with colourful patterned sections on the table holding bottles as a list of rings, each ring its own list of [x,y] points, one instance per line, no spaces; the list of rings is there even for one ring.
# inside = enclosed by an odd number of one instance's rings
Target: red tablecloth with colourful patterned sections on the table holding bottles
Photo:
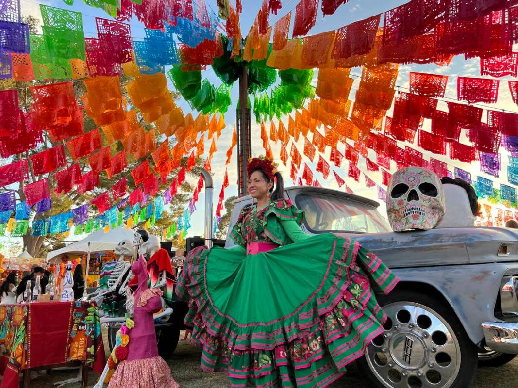
[[[85,360],[100,374],[105,354],[96,307],[85,302],[0,305],[0,388],[22,369]]]

